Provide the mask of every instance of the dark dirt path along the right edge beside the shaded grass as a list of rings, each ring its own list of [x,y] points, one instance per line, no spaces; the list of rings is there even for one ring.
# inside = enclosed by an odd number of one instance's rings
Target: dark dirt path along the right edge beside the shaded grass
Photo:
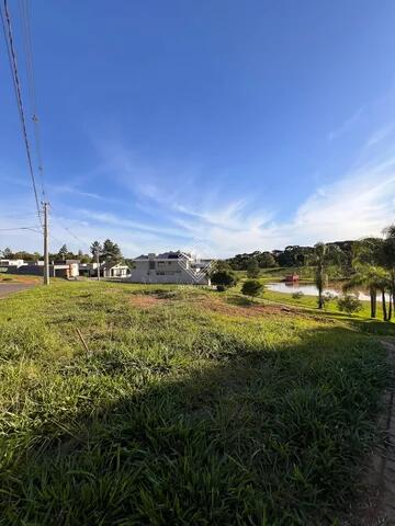
[[[395,368],[395,342],[382,340],[388,362]],[[385,433],[381,448],[373,451],[365,473],[365,492],[352,513],[352,526],[395,526],[395,373],[384,393],[385,410],[379,421]]]

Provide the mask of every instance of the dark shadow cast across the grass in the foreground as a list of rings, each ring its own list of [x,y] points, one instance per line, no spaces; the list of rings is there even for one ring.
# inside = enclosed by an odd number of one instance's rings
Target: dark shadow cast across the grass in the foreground
[[[43,398],[3,436],[0,524],[330,524],[375,437],[384,352],[331,327],[212,343],[182,375],[105,353],[60,370],[79,411]]]

